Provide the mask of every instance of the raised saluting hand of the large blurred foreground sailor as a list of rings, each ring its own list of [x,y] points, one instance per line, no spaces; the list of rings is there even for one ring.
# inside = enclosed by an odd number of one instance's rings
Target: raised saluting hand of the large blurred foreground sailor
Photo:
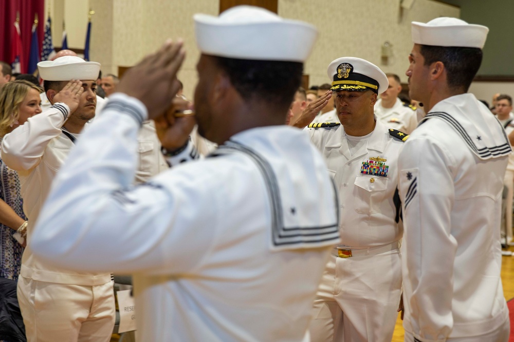
[[[180,88],[177,71],[185,54],[181,41],[168,40],[159,51],[125,72],[117,92],[139,99],[148,110],[149,118],[162,115]]]

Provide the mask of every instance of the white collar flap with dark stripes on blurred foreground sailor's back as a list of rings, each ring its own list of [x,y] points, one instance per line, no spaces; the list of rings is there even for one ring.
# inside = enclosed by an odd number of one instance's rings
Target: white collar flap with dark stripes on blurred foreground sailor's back
[[[304,151],[298,164],[283,163],[292,148]],[[218,147],[215,155],[243,154],[256,165],[264,179],[271,209],[269,248],[271,251],[327,247],[338,244],[339,213],[337,194],[326,164],[310,145],[303,131],[288,126],[260,127],[232,136]],[[301,160],[301,162],[300,162]],[[317,184],[306,184],[302,177],[291,177],[303,165],[307,179],[319,178]],[[326,179],[315,176],[326,171]],[[319,196],[312,196],[315,187]]]

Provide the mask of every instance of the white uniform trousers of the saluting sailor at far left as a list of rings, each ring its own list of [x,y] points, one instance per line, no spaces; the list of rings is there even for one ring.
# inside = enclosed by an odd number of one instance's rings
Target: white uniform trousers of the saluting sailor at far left
[[[113,285],[55,284],[20,276],[17,296],[27,341],[110,341],[116,319]]]

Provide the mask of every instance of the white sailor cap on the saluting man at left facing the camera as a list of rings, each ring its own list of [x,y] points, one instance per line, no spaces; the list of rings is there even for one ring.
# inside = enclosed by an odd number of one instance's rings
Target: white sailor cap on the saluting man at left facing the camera
[[[55,61],[39,62],[38,70],[45,81],[70,81],[70,79],[94,81],[100,73],[100,63],[86,62],[77,56],[63,56]]]

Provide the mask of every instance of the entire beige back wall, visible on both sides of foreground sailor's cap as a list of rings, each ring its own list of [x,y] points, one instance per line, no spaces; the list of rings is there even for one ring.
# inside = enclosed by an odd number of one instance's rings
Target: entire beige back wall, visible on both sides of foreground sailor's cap
[[[416,0],[411,9],[400,9],[400,0],[278,0],[281,16],[318,27],[320,35],[305,65],[310,84],[329,81],[326,67],[335,58],[368,59],[384,72],[407,81],[407,56],[412,48],[411,21],[428,22],[438,16],[460,16],[460,9],[433,0]],[[60,46],[62,18],[66,20],[70,47],[82,49],[87,10],[95,10],[91,33],[91,59],[102,72],[118,72],[132,66],[169,37],[184,39],[186,61],[179,72],[185,95],[192,97],[196,84],[195,63],[199,52],[194,38],[194,13],[217,15],[219,0],[47,0],[54,19],[53,39]],[[392,44],[393,56],[381,64],[384,42]]]

